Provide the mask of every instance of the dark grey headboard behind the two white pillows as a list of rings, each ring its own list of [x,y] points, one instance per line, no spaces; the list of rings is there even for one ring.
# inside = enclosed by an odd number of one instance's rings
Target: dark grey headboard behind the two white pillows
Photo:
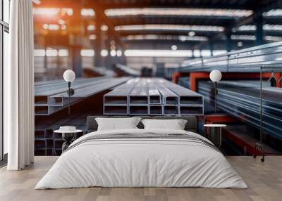
[[[95,120],[96,117],[103,117],[103,118],[129,118],[128,116],[88,116],[87,117],[87,133],[97,131],[98,124]],[[167,116],[134,116],[140,117],[141,119],[185,119],[187,123],[185,125],[185,131],[191,131],[197,133],[197,117],[195,116],[181,116],[181,117],[167,117]],[[139,129],[144,129],[144,125],[140,122],[137,127]]]

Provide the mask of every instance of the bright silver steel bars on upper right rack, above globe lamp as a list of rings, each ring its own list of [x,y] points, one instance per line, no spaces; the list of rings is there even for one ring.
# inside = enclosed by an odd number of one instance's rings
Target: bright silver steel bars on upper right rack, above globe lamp
[[[282,41],[231,51],[219,56],[186,60],[178,68],[179,72],[260,72],[262,66],[282,65]],[[269,70],[262,70],[268,72]]]

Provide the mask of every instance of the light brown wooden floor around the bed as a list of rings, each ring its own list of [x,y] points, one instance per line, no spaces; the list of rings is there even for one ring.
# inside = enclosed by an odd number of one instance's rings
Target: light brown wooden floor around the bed
[[[34,190],[56,157],[35,157],[23,171],[0,169],[0,200],[282,200],[282,156],[227,157],[249,186],[246,190],[214,188],[72,188]]]

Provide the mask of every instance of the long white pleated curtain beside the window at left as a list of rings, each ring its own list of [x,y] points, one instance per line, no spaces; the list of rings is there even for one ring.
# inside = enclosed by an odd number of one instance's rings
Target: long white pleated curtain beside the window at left
[[[4,69],[4,131],[8,134],[8,170],[34,159],[34,72],[32,0],[12,0],[9,65]]]

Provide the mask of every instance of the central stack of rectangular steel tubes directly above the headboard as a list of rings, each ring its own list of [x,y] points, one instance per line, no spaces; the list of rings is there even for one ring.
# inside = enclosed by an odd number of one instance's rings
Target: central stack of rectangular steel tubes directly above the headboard
[[[203,96],[166,79],[130,79],[104,95],[104,115],[203,115]]]

